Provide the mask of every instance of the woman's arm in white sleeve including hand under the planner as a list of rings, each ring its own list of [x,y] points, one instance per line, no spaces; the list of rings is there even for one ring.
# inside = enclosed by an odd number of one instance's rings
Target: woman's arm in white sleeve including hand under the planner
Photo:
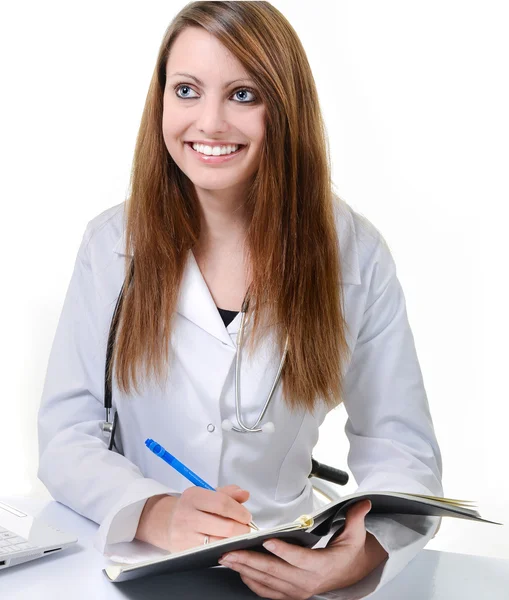
[[[348,465],[358,491],[441,496],[441,454],[403,292],[381,236],[362,279],[362,323],[344,379]],[[427,516],[372,516],[368,510],[369,503],[354,504],[344,531],[326,548],[272,540],[269,550],[275,557],[235,551],[220,564],[240,573],[246,585],[266,598],[364,598],[395,577],[440,522]]]

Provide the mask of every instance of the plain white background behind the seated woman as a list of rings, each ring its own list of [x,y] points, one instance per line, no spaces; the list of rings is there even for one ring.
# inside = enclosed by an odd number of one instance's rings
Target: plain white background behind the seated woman
[[[336,188],[395,258],[445,495],[504,523],[508,5],[273,4],[308,54]],[[35,495],[37,409],[76,252],[87,222],[126,198],[159,44],[184,3],[2,6],[0,494]],[[344,421],[331,413],[314,456],[346,469]],[[444,519],[427,547],[509,558],[507,522]]]

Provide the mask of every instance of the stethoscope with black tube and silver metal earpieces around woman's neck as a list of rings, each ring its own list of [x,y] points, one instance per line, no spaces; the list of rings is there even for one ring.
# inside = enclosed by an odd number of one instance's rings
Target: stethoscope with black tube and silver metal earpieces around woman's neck
[[[131,261],[131,268],[130,268],[130,271],[126,278],[127,279],[127,287],[129,287],[131,285],[133,276],[134,276],[134,260]],[[111,359],[112,359],[112,355],[113,355],[115,337],[117,334],[118,323],[120,320],[120,312],[122,310],[122,303],[124,300],[125,287],[126,287],[126,280],[124,280],[124,283],[122,284],[122,289],[120,290],[120,294],[117,298],[117,303],[115,305],[115,310],[113,311],[113,317],[111,319],[111,324],[110,324],[110,331],[108,334],[108,344],[107,344],[107,348],[106,348],[105,377],[104,377],[104,409],[106,411],[106,420],[103,423],[101,423],[101,429],[103,431],[103,434],[105,435],[106,438],[109,437],[108,450],[111,450],[113,447],[115,447],[115,449],[117,451],[119,451],[119,450],[115,444],[115,431],[116,431],[117,423],[118,423],[118,415],[117,415],[117,412],[115,411],[115,414],[113,416],[113,421],[110,421],[110,412],[112,410],[112,387],[111,387],[111,377],[109,376],[109,371],[110,371],[109,367],[110,367],[110,363],[111,363]],[[246,298],[244,299],[244,301],[242,303],[242,308],[241,308],[240,330],[239,330],[239,336],[238,336],[238,341],[237,341],[237,352],[236,352],[236,356],[235,356],[235,415],[237,418],[238,427],[235,427],[229,419],[225,419],[222,422],[221,426],[225,431],[236,431],[238,433],[260,433],[260,432],[274,433],[274,431],[275,431],[274,423],[269,421],[260,427],[259,427],[259,425],[260,425],[260,421],[263,419],[263,417],[265,416],[265,413],[267,412],[270,401],[272,399],[272,396],[274,395],[274,391],[275,391],[275,389],[279,383],[280,377],[281,377],[281,371],[283,370],[283,366],[285,364],[285,359],[286,359],[286,354],[288,351],[288,335],[286,336],[285,347],[283,350],[283,354],[281,356],[279,368],[278,368],[276,377],[274,379],[274,382],[272,384],[272,387],[270,389],[269,395],[267,396],[267,399],[265,400],[265,404],[264,404],[255,424],[252,427],[248,427],[243,422],[241,414],[240,414],[240,358],[241,358],[240,355],[241,355],[242,339],[244,337],[244,320],[245,320],[245,316],[246,316],[246,312],[247,312],[248,308],[249,308],[249,297],[248,297],[248,295],[246,295]]]

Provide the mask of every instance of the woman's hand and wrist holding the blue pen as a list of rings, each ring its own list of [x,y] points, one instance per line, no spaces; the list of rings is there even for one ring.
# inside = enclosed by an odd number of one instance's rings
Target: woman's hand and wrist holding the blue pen
[[[180,552],[251,531],[250,512],[242,506],[249,492],[237,485],[206,490],[187,488],[180,496],[149,498],[138,525],[136,538]]]

